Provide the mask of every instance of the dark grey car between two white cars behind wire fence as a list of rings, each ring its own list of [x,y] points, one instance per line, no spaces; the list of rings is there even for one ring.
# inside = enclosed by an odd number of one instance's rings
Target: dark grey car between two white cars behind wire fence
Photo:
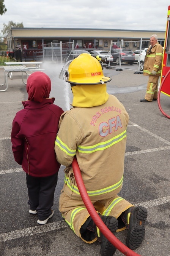
[[[111,54],[113,56],[113,62],[116,62],[116,64],[119,64],[120,58],[121,58],[121,62],[134,64],[135,54],[131,49],[116,48],[116,49],[112,49]]]

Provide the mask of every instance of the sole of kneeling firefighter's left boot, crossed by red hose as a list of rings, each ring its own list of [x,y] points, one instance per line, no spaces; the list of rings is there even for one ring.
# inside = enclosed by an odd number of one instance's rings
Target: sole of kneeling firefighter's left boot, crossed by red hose
[[[108,218],[104,223],[108,227],[108,229],[112,232],[112,234],[116,233],[116,230],[118,229],[118,220],[116,218],[112,216],[108,216]],[[101,235],[101,236],[102,236],[101,249],[100,249],[101,256],[112,256],[116,251],[116,247],[112,245],[112,243],[110,243],[109,240],[107,240],[107,238],[104,235]]]

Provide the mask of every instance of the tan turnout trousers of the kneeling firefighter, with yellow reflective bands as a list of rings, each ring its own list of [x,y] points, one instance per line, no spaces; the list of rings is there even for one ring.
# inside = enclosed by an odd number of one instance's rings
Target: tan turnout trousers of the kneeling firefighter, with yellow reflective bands
[[[67,185],[64,186],[64,188]],[[67,189],[66,189],[67,190]],[[111,193],[109,193],[109,196]],[[111,198],[107,198],[106,195],[99,195],[95,197],[90,197],[91,202],[94,205],[94,208],[98,213],[105,216],[114,216],[116,219],[130,208],[132,205],[122,197],[119,197],[117,194],[112,194]],[[68,223],[69,227],[74,231],[74,233],[80,237],[86,243],[93,243],[97,240],[95,236],[91,236],[92,240],[85,240],[85,236],[82,237],[80,229],[82,225],[87,221],[90,214],[88,213],[83,200],[80,195],[76,193],[69,194],[65,192],[65,189],[61,190],[60,201],[59,201],[59,210],[65,218],[65,221]],[[126,229],[124,226],[121,230]],[[121,231],[118,230],[118,231]],[[89,231],[88,231],[89,232]]]

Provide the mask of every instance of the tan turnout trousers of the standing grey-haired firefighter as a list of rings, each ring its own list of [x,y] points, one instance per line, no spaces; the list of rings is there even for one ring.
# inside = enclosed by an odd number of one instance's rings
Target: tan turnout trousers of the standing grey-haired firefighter
[[[159,76],[149,75],[148,85],[147,85],[146,94],[145,94],[145,99],[147,99],[147,101],[152,101],[153,98],[157,99],[158,80],[159,80]]]

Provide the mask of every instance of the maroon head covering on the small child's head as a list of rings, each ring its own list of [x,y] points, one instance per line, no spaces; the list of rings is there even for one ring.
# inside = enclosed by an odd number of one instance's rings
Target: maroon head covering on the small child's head
[[[41,71],[36,71],[27,79],[28,99],[42,102],[49,98],[51,91],[51,80],[48,75]]]

